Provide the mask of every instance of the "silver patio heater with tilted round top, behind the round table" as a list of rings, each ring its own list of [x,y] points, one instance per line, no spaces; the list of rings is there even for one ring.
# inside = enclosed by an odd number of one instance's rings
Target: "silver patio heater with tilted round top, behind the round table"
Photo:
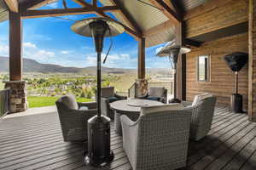
[[[173,99],[169,100],[169,103],[180,103],[181,100],[177,99],[176,92],[176,81],[177,81],[177,59],[179,54],[187,54],[191,51],[190,48],[185,46],[180,46],[176,44],[176,41],[168,42],[165,47],[161,48],[160,51],[156,54],[159,57],[169,57],[171,65],[173,65]]]

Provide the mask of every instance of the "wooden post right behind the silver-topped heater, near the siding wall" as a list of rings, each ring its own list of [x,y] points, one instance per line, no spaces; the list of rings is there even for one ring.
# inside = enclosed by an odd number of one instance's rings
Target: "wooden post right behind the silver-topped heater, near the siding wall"
[[[183,36],[183,23],[180,22],[176,26],[177,45],[183,45]],[[177,59],[176,87],[177,99],[186,100],[186,54],[179,55]]]

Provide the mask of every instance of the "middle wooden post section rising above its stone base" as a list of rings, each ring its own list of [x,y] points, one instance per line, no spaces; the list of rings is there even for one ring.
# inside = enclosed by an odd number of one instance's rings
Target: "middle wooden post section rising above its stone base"
[[[138,40],[138,62],[137,62],[137,77],[138,79],[144,79],[145,78],[145,44],[146,39],[145,37],[140,38]]]

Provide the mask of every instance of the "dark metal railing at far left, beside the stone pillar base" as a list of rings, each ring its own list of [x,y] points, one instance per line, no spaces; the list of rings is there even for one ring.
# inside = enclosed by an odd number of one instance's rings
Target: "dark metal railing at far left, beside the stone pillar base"
[[[9,113],[9,89],[0,90],[0,117]]]

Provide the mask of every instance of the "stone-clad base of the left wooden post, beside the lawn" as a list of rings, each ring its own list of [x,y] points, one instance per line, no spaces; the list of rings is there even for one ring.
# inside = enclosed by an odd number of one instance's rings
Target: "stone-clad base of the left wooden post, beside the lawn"
[[[25,81],[10,81],[5,82],[5,88],[10,89],[10,113],[26,111],[26,82]]]

